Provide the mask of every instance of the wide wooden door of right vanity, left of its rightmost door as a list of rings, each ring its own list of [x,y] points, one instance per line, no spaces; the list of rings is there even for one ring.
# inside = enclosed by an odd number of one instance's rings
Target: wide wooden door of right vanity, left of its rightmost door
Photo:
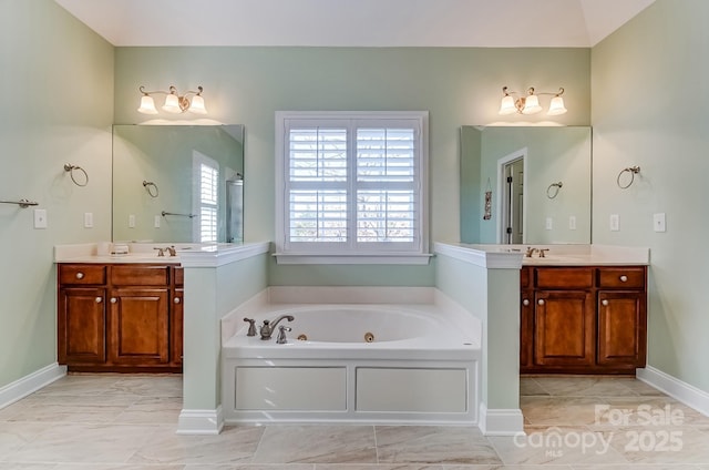
[[[534,365],[577,367],[595,361],[595,311],[587,290],[537,290]]]

